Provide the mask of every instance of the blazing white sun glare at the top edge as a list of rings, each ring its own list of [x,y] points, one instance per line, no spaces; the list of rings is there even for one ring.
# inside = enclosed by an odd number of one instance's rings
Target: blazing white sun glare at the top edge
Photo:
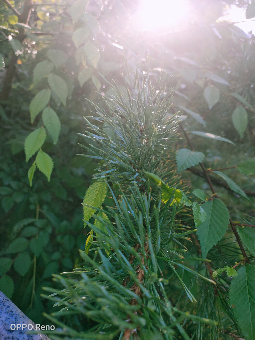
[[[140,0],[134,14],[134,28],[139,31],[178,30],[188,20],[187,0]]]

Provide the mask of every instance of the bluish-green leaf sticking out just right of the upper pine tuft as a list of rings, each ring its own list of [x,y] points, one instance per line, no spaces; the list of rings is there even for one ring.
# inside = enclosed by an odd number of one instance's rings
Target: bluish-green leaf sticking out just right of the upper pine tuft
[[[181,149],[176,152],[177,173],[202,162],[204,154],[198,151]]]

